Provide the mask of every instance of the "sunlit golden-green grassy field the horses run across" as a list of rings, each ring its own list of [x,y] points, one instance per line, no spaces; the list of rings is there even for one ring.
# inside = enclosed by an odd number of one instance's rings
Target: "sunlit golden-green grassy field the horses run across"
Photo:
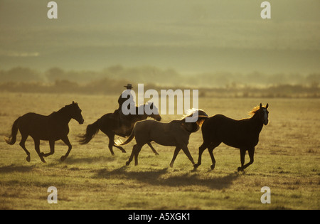
[[[224,144],[216,148],[215,170],[210,156],[196,171],[181,151],[174,168],[169,163],[174,147],[154,147],[155,156],[144,146],[139,166],[125,166],[134,141],[114,149],[101,132],[87,145],[78,144],[78,134],[117,108],[118,96],[41,95],[0,93],[0,134],[8,136],[14,120],[26,112],[50,114],[73,100],[79,103],[85,124],[70,122],[73,150],[60,161],[68,147],[57,142],[55,154],[43,164],[31,137],[26,148],[31,162],[17,143],[0,142],[0,209],[319,209],[320,208],[320,100],[319,99],[199,99],[199,107],[210,116],[225,114],[241,119],[252,107],[269,103],[270,124],[263,127],[255,150],[255,163],[238,173],[240,152]],[[163,121],[180,118],[163,115]],[[201,131],[191,134],[189,149],[196,161],[202,143]],[[49,151],[41,142],[41,151]],[[249,158],[246,155],[246,161]],[[58,189],[58,203],[47,202],[47,189]],[[262,204],[260,189],[269,186],[271,203]]]

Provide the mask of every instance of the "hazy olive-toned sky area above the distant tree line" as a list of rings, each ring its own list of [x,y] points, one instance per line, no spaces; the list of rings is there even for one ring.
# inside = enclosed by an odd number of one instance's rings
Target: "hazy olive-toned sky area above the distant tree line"
[[[0,0],[0,69],[319,73],[320,1]]]

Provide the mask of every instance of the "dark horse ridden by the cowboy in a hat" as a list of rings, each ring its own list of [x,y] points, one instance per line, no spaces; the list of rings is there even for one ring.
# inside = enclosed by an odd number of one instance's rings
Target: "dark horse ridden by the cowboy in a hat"
[[[156,108],[156,106],[154,105],[154,103],[151,103],[151,105],[146,104],[148,106],[150,106],[151,110],[155,107],[156,110],[158,110]],[[140,107],[146,107],[146,105],[141,105]],[[99,132],[99,130],[101,130],[103,133],[105,133],[107,135],[107,137],[109,137],[109,149],[112,155],[114,155],[112,146],[117,147],[118,149],[120,149],[122,152],[126,152],[122,146],[117,146],[116,144],[114,144],[114,135],[119,135],[121,137],[127,137],[129,136],[129,134],[131,134],[132,129],[134,127],[134,124],[138,121],[141,121],[143,119],[147,119],[148,117],[151,117],[153,119],[156,119],[157,121],[161,120],[161,116],[158,113],[152,113],[150,115],[145,113],[146,110],[144,110],[144,114],[138,114],[139,112],[139,107],[136,107],[136,114],[129,114],[127,116],[128,117],[128,122],[129,122],[129,127],[126,128],[122,128],[119,127],[119,114],[117,114],[117,111],[114,113],[109,113],[109,114],[105,114],[102,117],[100,117],[100,119],[97,119],[96,122],[94,122],[93,124],[89,124],[87,126],[87,130],[86,133],[83,135],[80,135],[80,144],[87,144],[90,142],[90,140],[95,137],[95,134],[97,134],[97,132]],[[156,150],[154,149],[153,146],[151,146],[151,144],[148,144],[150,146],[150,148],[152,149],[152,151],[154,151],[155,154],[158,154],[156,152]]]

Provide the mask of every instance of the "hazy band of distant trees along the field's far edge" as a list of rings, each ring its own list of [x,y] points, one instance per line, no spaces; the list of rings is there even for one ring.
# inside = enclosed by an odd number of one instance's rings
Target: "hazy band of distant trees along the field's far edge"
[[[0,91],[76,92],[82,94],[119,94],[123,85],[144,83],[146,89],[197,88],[201,96],[233,97],[319,97],[320,73],[250,74],[201,73],[182,75],[174,69],[152,66],[124,68],[114,65],[100,71],[50,68],[44,72],[31,68],[0,70]],[[263,91],[262,91],[263,90]]]

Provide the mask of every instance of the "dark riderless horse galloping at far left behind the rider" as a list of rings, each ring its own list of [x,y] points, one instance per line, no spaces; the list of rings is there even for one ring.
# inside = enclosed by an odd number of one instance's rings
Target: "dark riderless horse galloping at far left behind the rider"
[[[65,156],[61,156],[60,158],[61,161],[64,161],[68,157],[72,149],[72,146],[68,139],[68,124],[70,122],[70,119],[72,118],[79,122],[79,124],[83,124],[84,122],[78,103],[75,102],[70,105],[66,105],[58,112],[53,112],[48,116],[35,113],[24,114],[23,116],[18,117],[18,119],[16,119],[16,121],[12,125],[11,135],[9,139],[6,139],[6,143],[11,145],[14,144],[16,142],[16,134],[19,130],[21,134],[20,146],[24,151],[26,151],[26,161],[29,162],[30,152],[26,149],[25,142],[30,135],[33,138],[38,156],[40,157],[41,161],[45,163],[46,161],[43,159],[43,156],[52,155],[55,151],[55,141],[62,140],[69,147]],[[41,153],[40,140],[49,141],[49,153]]]

